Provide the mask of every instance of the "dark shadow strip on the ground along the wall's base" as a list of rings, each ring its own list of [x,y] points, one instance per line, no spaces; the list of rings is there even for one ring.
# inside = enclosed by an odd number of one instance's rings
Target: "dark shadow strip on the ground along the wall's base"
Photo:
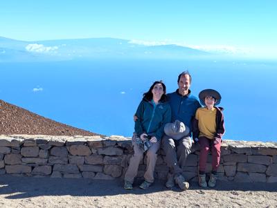
[[[84,178],[29,178],[17,176],[0,177],[0,194],[6,198],[30,198],[36,196],[114,196],[132,193],[136,195],[168,191],[165,181],[157,180],[149,189],[139,189],[140,180],[134,182],[133,190],[123,189],[123,180],[90,180]],[[190,190],[204,191],[197,182],[190,182]],[[277,191],[277,183],[217,183],[217,191]],[[180,192],[177,187],[172,191]]]

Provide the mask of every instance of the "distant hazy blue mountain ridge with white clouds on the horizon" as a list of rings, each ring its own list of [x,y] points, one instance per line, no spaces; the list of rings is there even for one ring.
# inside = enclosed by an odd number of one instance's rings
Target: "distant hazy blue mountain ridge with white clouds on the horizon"
[[[0,37],[0,62],[97,58],[186,59],[210,55],[212,54],[202,50],[175,44],[147,46],[127,39],[108,37],[44,41],[18,41]]]

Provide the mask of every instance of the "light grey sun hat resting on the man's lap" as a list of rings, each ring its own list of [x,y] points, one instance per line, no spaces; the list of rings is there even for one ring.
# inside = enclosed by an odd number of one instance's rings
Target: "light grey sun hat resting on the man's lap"
[[[175,122],[168,123],[163,128],[166,135],[174,140],[179,140],[188,136],[190,129],[183,122],[176,120]]]

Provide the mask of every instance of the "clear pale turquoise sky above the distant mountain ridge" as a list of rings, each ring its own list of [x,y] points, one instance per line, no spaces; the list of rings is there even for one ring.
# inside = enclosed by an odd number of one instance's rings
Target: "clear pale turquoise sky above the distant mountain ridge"
[[[0,1],[0,36],[114,37],[277,58],[276,0]]]

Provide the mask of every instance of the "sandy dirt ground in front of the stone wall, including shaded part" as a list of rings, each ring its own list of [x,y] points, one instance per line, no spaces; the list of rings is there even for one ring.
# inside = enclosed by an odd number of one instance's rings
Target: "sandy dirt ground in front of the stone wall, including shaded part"
[[[147,190],[123,189],[123,180],[0,176],[0,207],[277,207],[277,184],[196,182],[179,191],[155,181]]]

